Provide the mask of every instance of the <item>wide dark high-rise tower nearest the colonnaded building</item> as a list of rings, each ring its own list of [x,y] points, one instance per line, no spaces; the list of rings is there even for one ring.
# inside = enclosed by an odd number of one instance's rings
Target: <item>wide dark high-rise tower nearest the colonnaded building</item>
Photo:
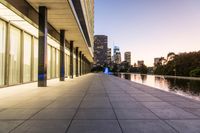
[[[108,37],[105,35],[94,36],[94,66],[107,64]]]

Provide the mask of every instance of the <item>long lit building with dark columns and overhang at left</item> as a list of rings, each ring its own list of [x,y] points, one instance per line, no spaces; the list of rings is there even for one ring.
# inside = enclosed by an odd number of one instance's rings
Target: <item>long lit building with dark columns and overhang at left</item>
[[[1,0],[0,87],[89,72],[93,37],[94,0]]]

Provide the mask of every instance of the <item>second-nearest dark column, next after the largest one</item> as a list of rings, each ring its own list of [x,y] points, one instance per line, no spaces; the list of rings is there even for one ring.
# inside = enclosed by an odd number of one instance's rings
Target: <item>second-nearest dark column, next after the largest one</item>
[[[65,81],[65,30],[60,30],[60,81]]]

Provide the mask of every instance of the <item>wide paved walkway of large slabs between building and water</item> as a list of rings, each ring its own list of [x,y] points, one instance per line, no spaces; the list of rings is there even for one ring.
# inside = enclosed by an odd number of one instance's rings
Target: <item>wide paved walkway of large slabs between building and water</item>
[[[200,102],[104,74],[0,89],[0,133],[200,133]]]

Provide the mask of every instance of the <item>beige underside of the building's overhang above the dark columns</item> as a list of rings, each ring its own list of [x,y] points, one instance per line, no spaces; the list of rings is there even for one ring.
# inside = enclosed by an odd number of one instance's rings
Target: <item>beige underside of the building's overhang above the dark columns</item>
[[[65,30],[67,41],[74,41],[74,47],[79,47],[79,51],[93,62],[93,53],[88,47],[89,44],[83,32],[79,18],[71,0],[26,0],[37,12],[39,6],[48,9],[48,23],[57,31]],[[6,1],[4,1],[4,4]],[[16,2],[16,4],[19,4]],[[36,23],[37,25],[37,23]],[[38,28],[38,27],[37,27]]]

